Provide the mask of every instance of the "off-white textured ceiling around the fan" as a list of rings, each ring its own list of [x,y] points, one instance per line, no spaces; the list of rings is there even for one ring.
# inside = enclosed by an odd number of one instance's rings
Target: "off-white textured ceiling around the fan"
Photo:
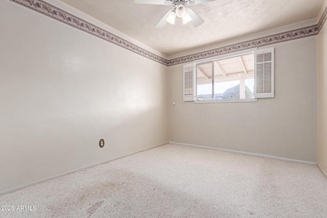
[[[169,56],[220,41],[316,18],[324,0],[216,0],[190,6],[204,23],[156,23],[172,6],[134,4],[134,0],[61,0]],[[165,0],[162,0],[165,2]],[[195,1],[196,2],[196,1]]]

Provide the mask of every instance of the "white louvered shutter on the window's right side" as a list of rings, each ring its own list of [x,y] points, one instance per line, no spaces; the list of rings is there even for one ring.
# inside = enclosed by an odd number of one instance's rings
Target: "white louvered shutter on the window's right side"
[[[274,97],[274,48],[255,52],[254,98]]]

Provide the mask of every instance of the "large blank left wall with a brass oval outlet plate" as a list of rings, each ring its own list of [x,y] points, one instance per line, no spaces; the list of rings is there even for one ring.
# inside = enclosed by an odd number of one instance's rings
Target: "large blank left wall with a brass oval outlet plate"
[[[168,142],[167,66],[10,1],[0,20],[0,193]]]

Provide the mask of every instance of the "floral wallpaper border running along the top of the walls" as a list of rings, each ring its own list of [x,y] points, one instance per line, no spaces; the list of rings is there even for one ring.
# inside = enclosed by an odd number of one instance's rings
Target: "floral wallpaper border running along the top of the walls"
[[[283,33],[278,33],[270,36],[265,36],[261,38],[256,38],[252,40],[248,40],[245,42],[240,42],[236,44],[231,44],[223,47],[219,47],[217,49],[212,49],[188,56],[183,56],[171,60],[166,60],[158,55],[155,55],[142,47],[139,47],[119,36],[116,36],[102,28],[97,27],[96,25],[92,25],[92,23],[87,22],[73,14],[70,14],[60,8],[57,8],[49,3],[46,3],[42,0],[10,0],[19,5],[25,6],[29,9],[32,9],[36,12],[54,18],[58,21],[66,23],[69,26],[87,32],[91,35],[97,36],[101,39],[104,39],[113,44],[119,45],[124,49],[127,49],[136,54],[142,55],[146,58],[149,58],[153,61],[159,62],[166,66],[172,66],[176,64],[182,64],[190,61],[196,61],[203,58],[214,57],[218,55],[223,55],[231,52],[242,51],[246,49],[251,49],[253,47],[262,47],[266,45],[271,45],[275,43],[310,37],[317,35],[321,28],[323,27],[326,19],[327,19],[327,8],[324,10],[319,22],[316,25],[304,27],[296,30],[291,30]]]

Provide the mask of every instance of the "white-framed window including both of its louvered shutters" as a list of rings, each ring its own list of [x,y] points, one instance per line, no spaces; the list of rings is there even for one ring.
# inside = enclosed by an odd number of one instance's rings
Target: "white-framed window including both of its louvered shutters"
[[[273,92],[273,48],[184,65],[184,101],[248,101]]]

